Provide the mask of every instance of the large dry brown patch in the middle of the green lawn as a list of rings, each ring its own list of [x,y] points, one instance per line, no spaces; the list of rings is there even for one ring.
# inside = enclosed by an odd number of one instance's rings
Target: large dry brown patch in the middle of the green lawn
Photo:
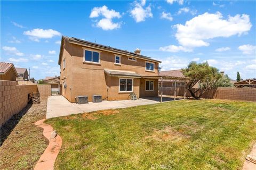
[[[186,139],[189,138],[189,135],[182,134],[178,131],[173,130],[169,126],[166,126],[165,129],[153,129],[152,135],[146,136],[145,139],[154,139],[157,141],[166,141],[172,139]]]

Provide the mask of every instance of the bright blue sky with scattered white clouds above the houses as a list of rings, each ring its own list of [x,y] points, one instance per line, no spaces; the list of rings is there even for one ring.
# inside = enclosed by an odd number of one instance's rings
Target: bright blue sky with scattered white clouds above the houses
[[[256,77],[255,1],[1,1],[1,61],[59,75],[61,35],[162,61],[208,61],[236,79]]]

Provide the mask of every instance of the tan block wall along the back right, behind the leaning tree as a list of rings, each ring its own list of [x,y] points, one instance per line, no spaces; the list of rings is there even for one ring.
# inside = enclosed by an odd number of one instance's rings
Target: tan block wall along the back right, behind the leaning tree
[[[161,94],[161,88],[159,88],[159,94]],[[163,95],[173,96],[174,88],[163,87]],[[184,88],[176,88],[176,95],[184,96]],[[186,92],[186,96],[191,97],[191,94],[188,90]],[[256,101],[256,88],[214,88],[205,92],[202,95],[202,98]]]

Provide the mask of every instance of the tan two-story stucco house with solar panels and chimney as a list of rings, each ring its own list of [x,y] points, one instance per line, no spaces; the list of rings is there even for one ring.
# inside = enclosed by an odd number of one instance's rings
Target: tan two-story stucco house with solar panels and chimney
[[[128,52],[62,36],[59,65],[61,95],[71,102],[77,96],[101,95],[106,100],[130,99],[158,95],[160,61],[140,55],[140,50]]]

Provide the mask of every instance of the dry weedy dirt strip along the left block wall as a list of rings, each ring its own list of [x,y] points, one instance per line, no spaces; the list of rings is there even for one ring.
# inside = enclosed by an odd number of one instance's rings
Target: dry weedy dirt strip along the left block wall
[[[48,145],[43,129],[34,123],[46,115],[47,97],[28,104],[1,128],[0,169],[33,169]]]

